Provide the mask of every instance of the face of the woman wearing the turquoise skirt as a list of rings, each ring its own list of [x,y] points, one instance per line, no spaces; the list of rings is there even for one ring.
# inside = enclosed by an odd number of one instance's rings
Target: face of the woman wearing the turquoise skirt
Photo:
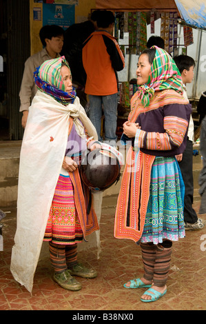
[[[136,83],[142,85],[147,83],[149,75],[151,72],[151,64],[149,62],[149,57],[147,54],[142,54],[138,58],[137,69],[136,69]]]

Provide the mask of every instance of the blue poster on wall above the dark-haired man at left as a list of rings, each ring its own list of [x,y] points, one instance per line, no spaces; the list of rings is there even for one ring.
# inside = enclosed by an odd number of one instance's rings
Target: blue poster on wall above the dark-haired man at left
[[[43,3],[43,26],[58,25],[66,30],[75,22],[75,6]]]

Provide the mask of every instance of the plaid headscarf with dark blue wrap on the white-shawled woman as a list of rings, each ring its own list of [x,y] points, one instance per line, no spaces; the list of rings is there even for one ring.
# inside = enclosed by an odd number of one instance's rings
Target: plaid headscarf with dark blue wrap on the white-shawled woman
[[[65,86],[61,78],[61,63],[70,69],[65,57],[58,57],[45,61],[34,72],[34,81],[41,92],[50,94],[56,101],[63,105],[73,103],[76,98],[76,91],[65,92]]]

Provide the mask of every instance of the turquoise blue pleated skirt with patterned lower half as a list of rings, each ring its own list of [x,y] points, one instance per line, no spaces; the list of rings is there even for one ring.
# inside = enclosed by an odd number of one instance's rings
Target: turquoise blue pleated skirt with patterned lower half
[[[141,242],[162,243],[185,237],[185,186],[174,157],[156,156],[152,165],[150,198]]]

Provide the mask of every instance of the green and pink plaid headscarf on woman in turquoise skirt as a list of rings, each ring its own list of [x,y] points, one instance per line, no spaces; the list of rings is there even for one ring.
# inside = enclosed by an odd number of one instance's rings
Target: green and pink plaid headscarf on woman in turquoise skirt
[[[150,105],[150,99],[157,90],[172,89],[183,93],[183,81],[181,74],[172,57],[162,48],[156,49],[155,57],[151,65],[151,72],[147,83],[138,88],[139,98],[144,107]]]

